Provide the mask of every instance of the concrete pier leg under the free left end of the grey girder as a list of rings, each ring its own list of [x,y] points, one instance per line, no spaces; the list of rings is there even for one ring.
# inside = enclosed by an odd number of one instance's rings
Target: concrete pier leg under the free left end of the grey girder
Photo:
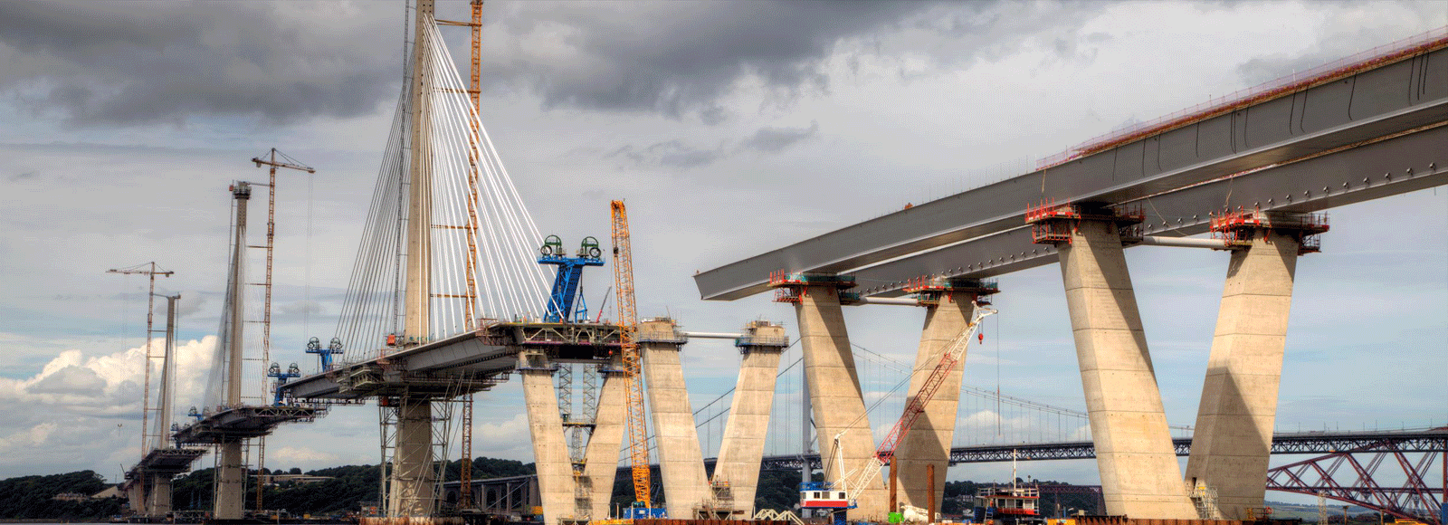
[[[824,461],[824,479],[838,483],[844,473],[863,468],[875,457],[875,437],[860,396],[860,377],[854,371],[850,335],[844,329],[840,292],[833,284],[804,286],[795,305],[795,316],[805,354],[820,457],[828,458]],[[834,448],[835,435],[840,435],[840,450]],[[844,471],[840,470],[841,461]],[[873,480],[860,492],[859,508],[849,510],[847,518],[882,521],[885,496],[883,483]]]

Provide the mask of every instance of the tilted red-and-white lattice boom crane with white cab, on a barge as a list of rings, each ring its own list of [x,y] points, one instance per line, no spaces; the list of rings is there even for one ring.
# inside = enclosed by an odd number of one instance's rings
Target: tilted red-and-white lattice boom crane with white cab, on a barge
[[[966,348],[970,347],[970,339],[980,331],[980,319],[995,315],[996,310],[975,305],[975,316],[970,319],[970,325],[960,332],[951,341],[950,347],[940,354],[940,361],[935,363],[935,368],[931,370],[925,381],[921,383],[919,390],[915,392],[909,400],[905,402],[905,410],[901,413],[901,419],[895,422],[891,432],[885,435],[880,445],[875,450],[875,455],[870,457],[863,466],[854,470],[844,468],[844,454],[841,454],[840,438],[844,437],[846,431],[840,431],[834,435],[834,445],[830,451],[831,457],[840,463],[837,471],[843,473],[837,481],[811,481],[799,484],[799,506],[801,508],[815,508],[815,509],[831,509],[834,515],[834,522],[838,525],[844,524],[844,510],[856,508],[856,500],[860,493],[875,481],[885,464],[889,464],[895,458],[895,448],[905,441],[905,435],[909,434],[911,426],[915,421],[925,413],[925,405],[935,397],[935,392],[941,384],[946,383],[946,377],[956,363],[964,355]],[[983,341],[982,335],[982,341]],[[908,381],[909,379],[906,379]],[[853,426],[853,425],[851,425]],[[893,512],[895,509],[889,509]]]

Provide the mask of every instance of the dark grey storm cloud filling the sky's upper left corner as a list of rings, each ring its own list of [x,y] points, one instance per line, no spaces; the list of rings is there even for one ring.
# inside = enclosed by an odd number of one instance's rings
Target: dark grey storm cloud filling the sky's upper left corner
[[[392,17],[401,6],[3,1],[0,96],[83,126],[363,115],[401,75],[400,30],[376,38]]]

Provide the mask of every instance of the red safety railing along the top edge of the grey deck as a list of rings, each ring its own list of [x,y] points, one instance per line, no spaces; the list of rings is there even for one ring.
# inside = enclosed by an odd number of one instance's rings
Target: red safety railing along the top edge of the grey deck
[[[1308,71],[1293,73],[1290,75],[1284,75],[1277,80],[1271,80],[1254,87],[1238,90],[1235,93],[1203,102],[1200,104],[1183,109],[1180,112],[1163,117],[1135,123],[1124,129],[1116,129],[1109,133],[1095,136],[1086,142],[1072,146],[1070,149],[1066,149],[1063,152],[1037,161],[1035,168],[1045,170],[1053,165],[1066,164],[1069,161],[1090,154],[1096,154],[1100,151],[1106,151],[1119,146],[1122,144],[1134,142],[1151,135],[1163,133],[1195,122],[1206,120],[1218,115],[1231,113],[1238,109],[1279,99],[1292,93],[1310,88],[1313,86],[1332,83],[1344,77],[1351,77],[1354,74],[1367,70],[1403,61],[1425,52],[1442,49],[1445,46],[1448,46],[1448,26],[1438,28],[1425,32],[1422,35],[1410,36],[1393,44],[1381,45],[1352,57],[1341,58],[1334,62],[1310,68]]]

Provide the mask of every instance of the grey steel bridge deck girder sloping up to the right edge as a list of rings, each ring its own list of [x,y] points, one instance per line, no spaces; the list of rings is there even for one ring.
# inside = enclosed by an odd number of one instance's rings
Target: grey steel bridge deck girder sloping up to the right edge
[[[1345,78],[1309,83],[1312,87],[1255,100],[1229,113],[1202,116],[1199,120],[1122,142],[1060,165],[708,270],[695,276],[695,284],[704,299],[733,300],[765,292],[767,276],[773,271],[857,273],[863,281],[862,268],[896,260],[909,261],[922,254],[935,255],[943,247],[956,248],[972,239],[989,241],[963,249],[967,255],[964,258],[946,264],[895,265],[889,271],[875,271],[872,278],[904,281],[940,274],[943,268],[960,268],[947,276],[986,277],[1047,264],[1054,261],[1054,257],[1034,264],[1009,264],[1016,262],[1015,257],[1025,257],[1019,254],[1031,252],[1028,244],[1019,244],[1024,212],[1028,203],[1043,200],[1122,204],[1163,193],[1186,191],[1190,200],[1209,202],[1212,206],[1174,209],[1171,213],[1176,215],[1166,212],[1161,215],[1169,222],[1190,216],[1206,220],[1206,212],[1221,210],[1226,203],[1226,193],[1222,191],[1224,186],[1197,189],[1199,184],[1266,167],[1303,164],[1323,154],[1341,157],[1337,152],[1448,122],[1448,49],[1445,48],[1448,36],[1441,36],[1419,44],[1412,55],[1397,57],[1393,61],[1374,61],[1368,67],[1354,70],[1357,73]],[[1393,161],[1393,168],[1386,173],[1402,173],[1407,167],[1419,173],[1425,168],[1434,171],[1428,168],[1431,160],[1420,158],[1422,155],[1393,158],[1396,151],[1399,149],[1377,148],[1371,157],[1378,161]],[[1331,162],[1313,162],[1313,165],[1316,173],[1335,178],[1341,178],[1342,174],[1357,178],[1373,174],[1367,171],[1367,165],[1348,167]],[[1436,162],[1435,167],[1436,173],[1444,171],[1442,162]],[[1274,171],[1271,175],[1287,177],[1289,173],[1290,170]],[[1303,190],[1329,193],[1321,190],[1328,184],[1318,184],[1318,180],[1310,183],[1312,186],[1303,184],[1281,194],[1296,197]],[[1341,186],[1329,186],[1329,190],[1334,189]],[[1406,191],[1412,187],[1394,186],[1394,189]],[[1371,197],[1381,196],[1384,194]],[[1273,203],[1281,199],[1274,197]],[[1319,200],[1322,206],[1344,203],[1350,200]],[[1200,231],[1205,231],[1205,226],[1197,232]],[[998,238],[1002,233],[1005,236]],[[960,255],[960,251],[956,249],[953,255]],[[983,261],[989,268],[967,270],[961,261],[966,264]],[[886,290],[862,292],[875,294],[896,289],[898,286],[888,286]]]

